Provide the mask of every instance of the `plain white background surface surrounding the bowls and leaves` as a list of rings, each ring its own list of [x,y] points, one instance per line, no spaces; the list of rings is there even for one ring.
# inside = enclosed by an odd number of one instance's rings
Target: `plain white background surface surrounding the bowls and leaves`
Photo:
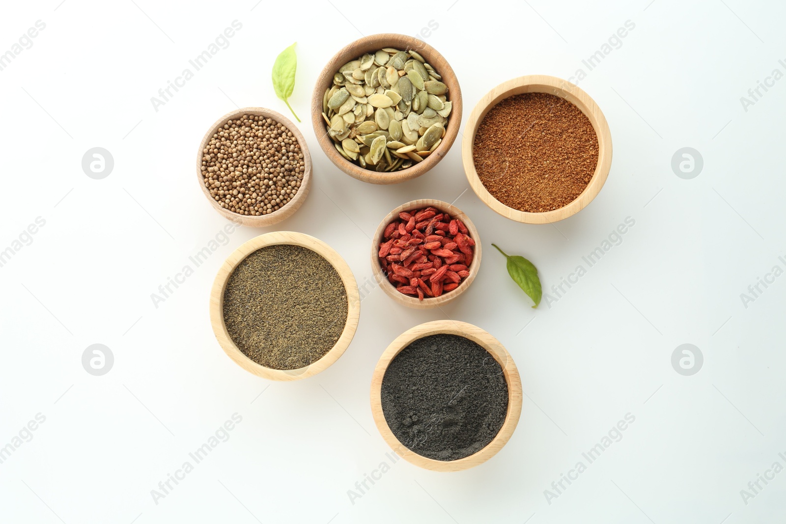
[[[774,68],[786,72],[782,2],[448,0],[390,11],[385,2],[134,2],[13,2],[0,18],[0,53],[36,20],[46,24],[0,71],[0,250],[46,220],[0,268],[0,445],[46,416],[0,464],[2,522],[784,519],[786,473],[747,504],[740,495],[773,462],[786,466],[786,277],[747,308],[740,299],[786,255],[786,80],[747,112],[740,103]],[[150,98],[233,20],[243,27],[230,46],[156,112]],[[432,20],[439,27],[425,39],[461,82],[465,120],[507,79],[586,71],[582,59],[635,24],[579,82],[614,141],[589,207],[556,225],[494,214],[465,191],[461,137],[434,170],[394,186],[329,163],[309,115],[321,68],[362,34],[416,35]],[[270,69],[294,41],[291,103],[314,161],[306,203],[275,228],[233,233],[154,307],[151,293],[227,223],[195,181],[201,137],[237,106],[288,115]],[[686,146],[703,156],[692,180],[670,167]],[[114,158],[103,180],[81,167],[94,147]],[[371,284],[369,235],[415,198],[455,200],[485,247],[472,288],[444,313],[397,306]],[[530,258],[548,290],[626,217],[635,225],[622,244],[537,310],[490,247]],[[346,354],[296,383],[244,372],[208,321],[223,259],[274,229],[325,240],[366,290]],[[526,394],[519,426],[480,467],[439,474],[400,460],[352,504],[347,490],[388,451],[369,409],[376,361],[395,336],[445,314],[486,329],[514,357]],[[105,376],[83,368],[94,343],[114,354]],[[672,368],[682,343],[703,353],[696,375]],[[155,504],[151,490],[235,412],[243,420],[230,439]],[[544,490],[629,412],[623,439],[549,504]]]

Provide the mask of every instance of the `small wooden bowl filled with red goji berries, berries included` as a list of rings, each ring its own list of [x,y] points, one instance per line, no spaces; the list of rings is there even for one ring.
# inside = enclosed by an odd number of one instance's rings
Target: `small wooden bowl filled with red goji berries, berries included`
[[[377,284],[404,306],[428,309],[457,299],[475,280],[480,236],[459,208],[421,199],[396,207],[373,236]]]

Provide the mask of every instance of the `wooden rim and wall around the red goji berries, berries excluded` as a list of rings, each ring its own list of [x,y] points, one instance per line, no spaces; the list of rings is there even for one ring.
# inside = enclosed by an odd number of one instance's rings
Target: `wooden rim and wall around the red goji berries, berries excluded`
[[[399,218],[399,213],[402,211],[421,209],[423,207],[429,206],[436,207],[439,209],[439,211],[450,214],[450,218],[458,218],[461,220],[461,222],[464,222],[464,225],[466,225],[467,229],[469,230],[469,236],[472,238],[472,240],[475,240],[475,254],[472,258],[472,264],[468,268],[469,276],[464,280],[461,280],[461,284],[458,284],[458,288],[455,288],[453,291],[447,291],[438,297],[425,297],[423,300],[419,300],[417,297],[410,297],[408,295],[399,293],[399,291],[396,291],[395,286],[390,283],[390,280],[387,280],[387,277],[385,277],[385,274],[382,272],[382,266],[380,266],[380,258],[378,255],[380,252],[380,242],[382,241],[382,235],[385,232],[385,227],[395,220],[395,218]],[[478,233],[478,229],[475,227],[475,224],[472,223],[472,220],[470,220],[469,217],[464,214],[464,211],[461,211],[453,204],[443,202],[442,200],[412,200],[411,202],[407,202],[399,207],[396,207],[393,211],[388,213],[387,216],[382,219],[380,225],[376,227],[376,233],[374,233],[371,241],[371,270],[374,273],[376,284],[379,284],[380,288],[382,288],[387,296],[389,296],[395,302],[399,302],[399,304],[402,304],[403,306],[413,307],[417,310],[428,310],[433,307],[444,306],[446,303],[457,299],[461,293],[467,291],[469,284],[472,284],[472,280],[475,280],[475,277],[478,274],[481,255],[482,251],[480,247],[480,233]]]

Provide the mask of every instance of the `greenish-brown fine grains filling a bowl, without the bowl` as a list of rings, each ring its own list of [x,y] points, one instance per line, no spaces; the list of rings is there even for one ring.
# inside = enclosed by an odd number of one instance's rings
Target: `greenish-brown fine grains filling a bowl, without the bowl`
[[[306,247],[262,247],[237,265],[224,291],[226,331],[243,354],[273,369],[313,364],[347,322],[336,269]]]

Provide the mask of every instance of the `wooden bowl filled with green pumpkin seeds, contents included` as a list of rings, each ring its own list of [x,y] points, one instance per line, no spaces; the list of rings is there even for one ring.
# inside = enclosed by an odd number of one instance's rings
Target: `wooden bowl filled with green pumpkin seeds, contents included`
[[[311,100],[314,133],[340,170],[373,184],[411,180],[434,167],[461,125],[461,87],[427,43],[370,35],[325,66]]]

